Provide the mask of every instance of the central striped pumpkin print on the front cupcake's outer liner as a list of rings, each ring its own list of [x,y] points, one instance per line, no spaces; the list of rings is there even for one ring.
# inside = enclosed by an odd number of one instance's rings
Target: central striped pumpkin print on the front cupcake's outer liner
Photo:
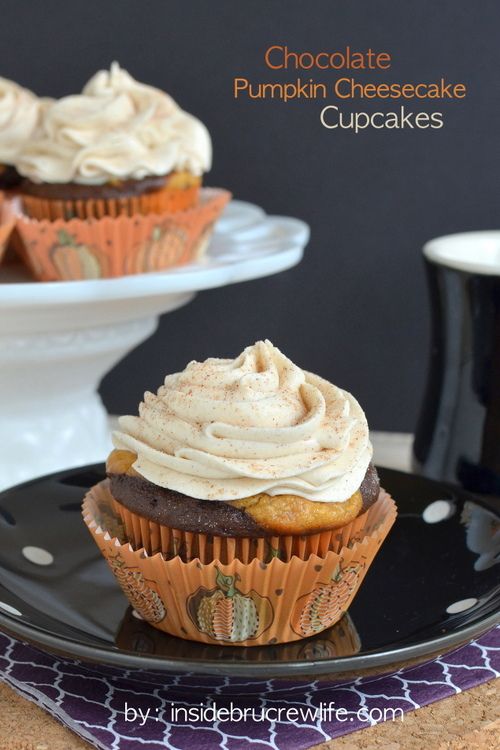
[[[242,594],[236,588],[241,578],[236,573],[226,576],[217,567],[217,588],[199,588],[189,597],[188,614],[202,633],[217,641],[252,640],[262,635],[273,621],[273,607],[269,599],[251,590]]]

